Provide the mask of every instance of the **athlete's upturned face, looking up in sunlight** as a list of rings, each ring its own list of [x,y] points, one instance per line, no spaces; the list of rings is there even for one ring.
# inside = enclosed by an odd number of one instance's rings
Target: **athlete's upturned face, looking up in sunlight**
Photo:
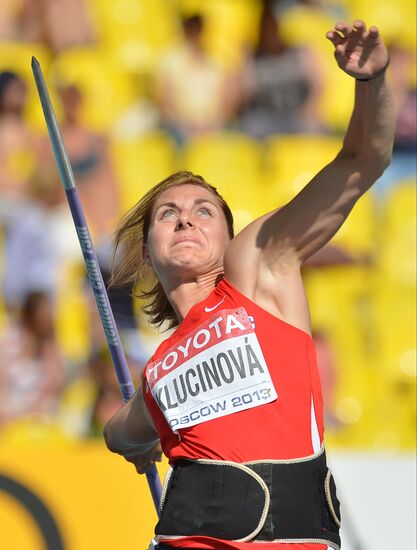
[[[158,278],[203,275],[223,268],[229,242],[217,197],[198,185],[170,187],[152,212],[144,260]]]

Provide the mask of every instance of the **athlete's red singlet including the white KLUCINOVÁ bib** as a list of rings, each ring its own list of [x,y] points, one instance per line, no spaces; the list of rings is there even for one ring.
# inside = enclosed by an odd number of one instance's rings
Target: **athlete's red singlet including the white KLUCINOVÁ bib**
[[[224,278],[194,305],[144,371],[144,398],[169,462],[293,459],[323,442],[314,343]],[[172,547],[249,550],[255,542],[186,537]],[[268,550],[324,544],[261,543]]]

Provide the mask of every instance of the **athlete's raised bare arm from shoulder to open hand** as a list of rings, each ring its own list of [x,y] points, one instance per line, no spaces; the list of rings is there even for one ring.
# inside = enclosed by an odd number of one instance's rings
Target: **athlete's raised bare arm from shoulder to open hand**
[[[395,108],[385,77],[388,52],[378,29],[368,30],[358,20],[353,26],[338,23],[326,36],[340,69],[356,79],[354,110],[341,151],[291,202],[244,229],[225,256],[226,275],[263,305],[268,304],[262,296],[268,302],[281,276],[282,288],[289,290],[288,275],[333,237],[391,159]]]

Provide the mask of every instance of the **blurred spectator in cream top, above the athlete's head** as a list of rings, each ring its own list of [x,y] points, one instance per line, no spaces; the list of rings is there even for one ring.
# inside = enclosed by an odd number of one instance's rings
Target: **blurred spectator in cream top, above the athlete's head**
[[[166,129],[181,143],[223,128],[241,101],[239,78],[210,59],[203,47],[204,20],[183,20],[184,44],[162,58],[156,99]]]

